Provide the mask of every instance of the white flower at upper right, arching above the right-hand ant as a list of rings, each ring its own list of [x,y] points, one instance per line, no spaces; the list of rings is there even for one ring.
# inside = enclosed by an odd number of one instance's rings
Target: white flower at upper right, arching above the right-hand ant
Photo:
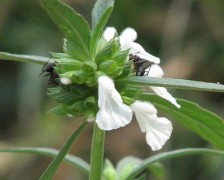
[[[142,59],[159,64],[160,59],[149,54],[144,48],[134,42],[137,39],[137,32],[133,28],[126,28],[120,35],[121,49],[130,49],[129,54],[138,55]]]

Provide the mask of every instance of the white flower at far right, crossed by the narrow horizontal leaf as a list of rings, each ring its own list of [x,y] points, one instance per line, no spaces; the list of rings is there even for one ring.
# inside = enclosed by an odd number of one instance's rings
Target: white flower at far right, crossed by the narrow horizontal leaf
[[[164,75],[162,68],[154,64],[149,68],[149,77],[161,78]],[[167,91],[164,87],[150,87],[158,96],[170,101],[177,108],[180,108],[180,105],[177,103],[176,99]]]

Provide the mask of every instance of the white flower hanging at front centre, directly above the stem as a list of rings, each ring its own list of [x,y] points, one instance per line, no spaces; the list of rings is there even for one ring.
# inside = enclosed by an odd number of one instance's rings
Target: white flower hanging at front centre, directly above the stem
[[[107,76],[98,79],[98,106],[96,123],[102,130],[117,129],[132,120],[132,110],[122,102],[113,80]]]

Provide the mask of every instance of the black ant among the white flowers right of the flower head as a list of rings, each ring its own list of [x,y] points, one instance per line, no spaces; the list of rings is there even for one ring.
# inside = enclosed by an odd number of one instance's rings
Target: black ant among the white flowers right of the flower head
[[[129,55],[129,60],[133,61],[134,64],[134,68],[136,71],[136,76],[146,76],[149,73],[149,67],[153,64],[152,62],[146,60],[146,59],[142,59],[140,58],[137,54],[133,55],[130,54]],[[148,71],[147,71],[148,69]]]

